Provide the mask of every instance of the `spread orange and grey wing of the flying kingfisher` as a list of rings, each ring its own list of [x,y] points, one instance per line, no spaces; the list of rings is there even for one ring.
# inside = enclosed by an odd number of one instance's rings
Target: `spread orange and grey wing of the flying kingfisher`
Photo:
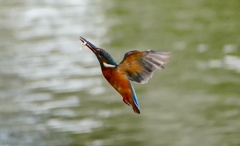
[[[144,84],[152,77],[154,70],[164,68],[169,56],[170,52],[130,51],[125,54],[117,69],[129,80]]]

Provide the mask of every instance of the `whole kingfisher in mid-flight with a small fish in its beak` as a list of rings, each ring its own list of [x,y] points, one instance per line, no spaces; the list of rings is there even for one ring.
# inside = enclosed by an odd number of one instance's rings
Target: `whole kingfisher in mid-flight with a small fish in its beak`
[[[135,113],[140,114],[136,92],[130,81],[145,84],[152,77],[156,69],[164,69],[164,64],[170,56],[170,52],[154,50],[132,50],[124,55],[118,64],[110,54],[102,48],[98,48],[83,37],[79,38],[84,46],[87,46],[96,55],[105,79],[123,97],[123,102]]]

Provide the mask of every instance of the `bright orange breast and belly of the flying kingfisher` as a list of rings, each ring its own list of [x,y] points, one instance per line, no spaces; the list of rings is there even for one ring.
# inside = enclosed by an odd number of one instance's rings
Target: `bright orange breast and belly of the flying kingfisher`
[[[122,73],[112,68],[103,68],[102,72],[106,80],[122,95],[123,98],[132,97],[130,83]]]

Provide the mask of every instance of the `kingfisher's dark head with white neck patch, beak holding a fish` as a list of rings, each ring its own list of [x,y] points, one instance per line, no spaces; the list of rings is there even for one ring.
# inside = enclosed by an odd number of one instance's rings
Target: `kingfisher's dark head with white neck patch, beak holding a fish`
[[[107,51],[94,46],[88,40],[83,37],[79,38],[83,42],[83,46],[87,46],[92,52],[97,56],[98,61],[100,62],[101,67],[110,67],[114,68],[118,64],[112,59],[112,57],[108,54]]]

